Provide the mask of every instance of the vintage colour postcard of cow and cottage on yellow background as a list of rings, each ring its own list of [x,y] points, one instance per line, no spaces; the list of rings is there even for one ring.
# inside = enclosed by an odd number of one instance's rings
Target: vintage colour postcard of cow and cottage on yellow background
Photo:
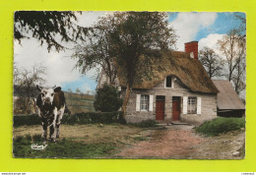
[[[246,16],[17,11],[15,158],[243,159]]]

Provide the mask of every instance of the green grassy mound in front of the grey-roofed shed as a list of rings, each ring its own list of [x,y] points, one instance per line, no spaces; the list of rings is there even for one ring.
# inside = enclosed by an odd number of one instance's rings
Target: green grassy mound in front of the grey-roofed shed
[[[245,118],[218,117],[196,128],[196,132],[208,136],[218,136],[223,133],[240,130],[241,128],[245,128]]]

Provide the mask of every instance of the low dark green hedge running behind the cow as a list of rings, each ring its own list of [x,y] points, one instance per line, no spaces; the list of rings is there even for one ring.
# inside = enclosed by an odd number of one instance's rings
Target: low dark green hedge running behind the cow
[[[120,123],[126,124],[122,112],[87,112],[78,113],[73,115],[64,114],[61,120],[62,124],[93,124],[93,123]],[[38,115],[20,115],[14,116],[14,127],[23,125],[40,125],[40,118]]]

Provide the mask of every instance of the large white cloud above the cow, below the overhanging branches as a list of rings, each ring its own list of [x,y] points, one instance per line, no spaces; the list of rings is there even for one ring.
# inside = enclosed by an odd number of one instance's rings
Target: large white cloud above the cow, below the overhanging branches
[[[61,83],[76,81],[80,78],[78,70],[73,70],[76,60],[71,59],[71,51],[47,52],[39,46],[36,39],[23,39],[22,45],[14,43],[14,61],[18,68],[32,70],[34,64],[46,67],[46,86],[59,86]]]

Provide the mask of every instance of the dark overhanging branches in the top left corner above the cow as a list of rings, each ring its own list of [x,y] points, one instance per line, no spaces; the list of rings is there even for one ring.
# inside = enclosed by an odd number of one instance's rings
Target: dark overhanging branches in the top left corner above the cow
[[[22,38],[34,37],[50,51],[65,49],[61,42],[83,38],[86,28],[75,23],[75,12],[59,11],[17,11],[14,16],[14,37],[21,43]]]

